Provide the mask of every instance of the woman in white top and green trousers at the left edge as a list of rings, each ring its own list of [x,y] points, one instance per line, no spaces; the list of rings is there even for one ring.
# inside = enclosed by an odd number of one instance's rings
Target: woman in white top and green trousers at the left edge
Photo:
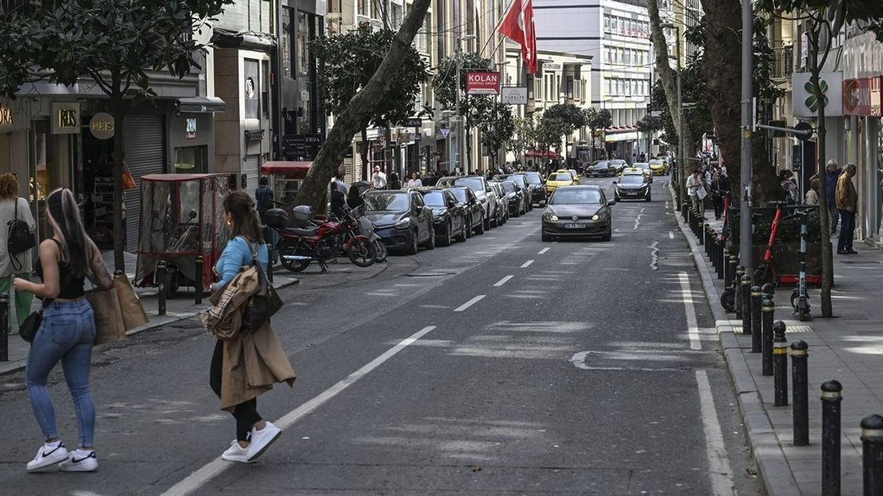
[[[34,232],[36,223],[31,207],[27,200],[19,198],[19,179],[14,174],[7,172],[0,175],[0,226],[9,226],[15,219],[26,222],[27,227]],[[12,277],[18,277],[30,281],[31,271],[34,270],[34,261],[31,259],[32,250],[25,252],[9,252],[9,229],[0,229],[0,293],[10,293]],[[31,303],[34,302],[34,293],[16,291],[10,299],[15,301],[15,317],[19,327],[31,314]],[[12,312],[6,312],[6,321],[3,323],[5,333],[9,334],[12,320]]]

